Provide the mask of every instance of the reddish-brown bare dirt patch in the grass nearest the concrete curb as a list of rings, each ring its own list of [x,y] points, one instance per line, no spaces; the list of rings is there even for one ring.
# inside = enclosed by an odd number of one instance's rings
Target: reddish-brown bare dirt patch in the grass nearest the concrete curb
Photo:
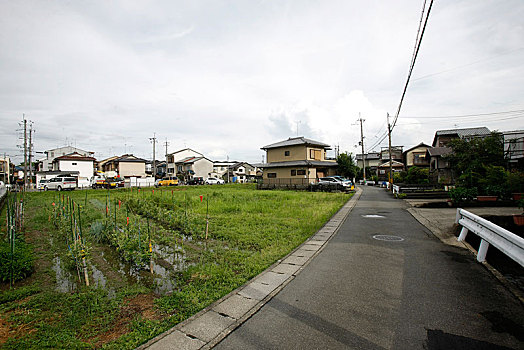
[[[155,298],[152,294],[139,294],[133,298],[125,299],[124,305],[120,309],[120,314],[116,318],[115,323],[109,331],[100,334],[95,338],[95,346],[101,347],[102,345],[129,333],[129,324],[136,317],[140,316],[146,320],[162,319],[162,314],[155,310],[154,301]]]

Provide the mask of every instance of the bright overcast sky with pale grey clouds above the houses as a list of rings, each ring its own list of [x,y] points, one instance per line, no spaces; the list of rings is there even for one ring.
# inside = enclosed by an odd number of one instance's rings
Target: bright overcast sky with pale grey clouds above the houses
[[[426,11],[430,0],[427,0]],[[98,160],[191,148],[260,163],[304,136],[387,146],[424,0],[0,0],[0,154],[72,145]],[[524,2],[436,0],[392,144],[524,129]],[[37,153],[36,158],[42,158]]]

